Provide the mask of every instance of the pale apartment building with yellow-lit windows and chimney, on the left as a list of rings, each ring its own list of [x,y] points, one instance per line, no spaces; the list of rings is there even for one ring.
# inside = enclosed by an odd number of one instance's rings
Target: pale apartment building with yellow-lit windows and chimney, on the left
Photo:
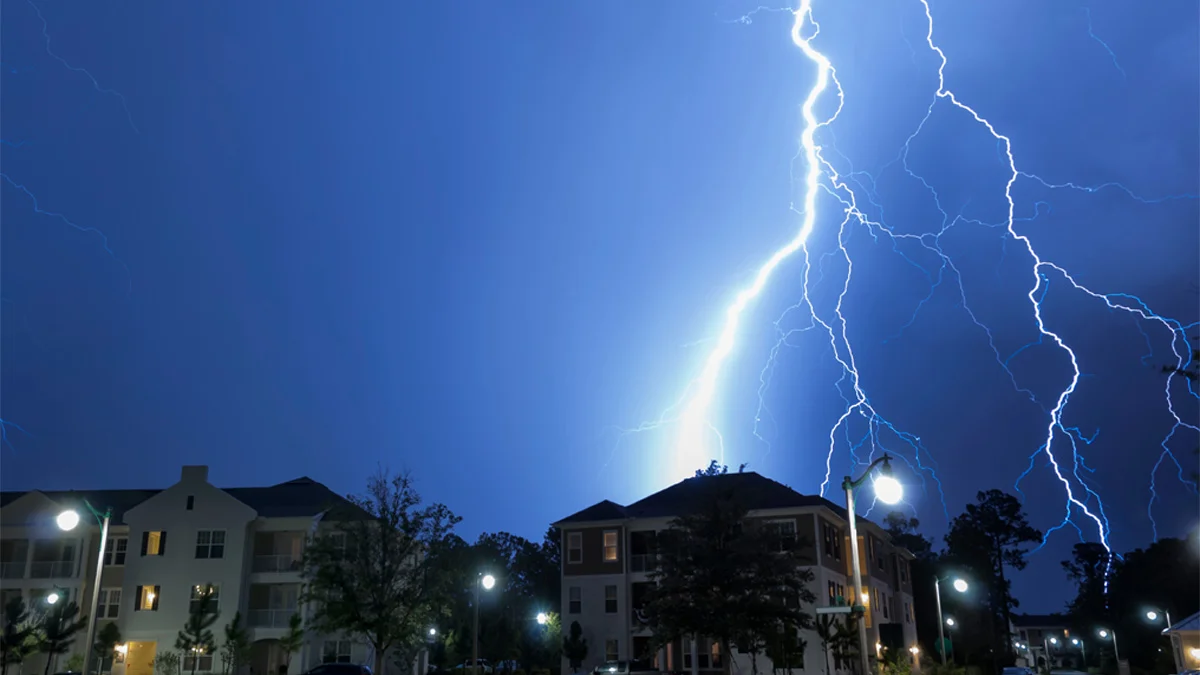
[[[28,491],[0,494],[0,595],[19,595],[34,608],[53,591],[90,611],[100,551],[100,526],[84,500],[112,509],[97,603],[97,633],[115,622],[124,643],[103,670],[154,675],[154,659],[175,650],[197,592],[211,585],[223,627],[240,611],[248,626],[254,675],[276,675],[289,661],[278,647],[288,620],[307,608],[299,602],[300,557],[308,537],[337,521],[365,514],[329,488],[296,478],[265,488],[221,489],[206,466],[185,466],[180,480],[162,490]],[[73,508],[79,526],[64,532],[55,518]],[[65,602],[65,601],[60,601]],[[72,652],[83,653],[79,633]],[[67,655],[58,657],[65,669]],[[292,655],[288,673],[323,662],[371,663],[368,647],[342,635],[308,635]],[[25,671],[41,673],[44,656]],[[197,671],[222,671],[220,655],[198,657]],[[190,673],[191,657],[184,663]],[[53,671],[53,670],[52,670]],[[380,674],[382,675],[382,674]]]

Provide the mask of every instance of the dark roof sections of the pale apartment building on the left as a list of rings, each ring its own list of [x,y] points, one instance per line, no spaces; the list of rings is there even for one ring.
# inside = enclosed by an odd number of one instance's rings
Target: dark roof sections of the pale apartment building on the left
[[[222,488],[229,496],[258,512],[260,518],[312,518],[331,510],[336,519],[361,518],[360,508],[307,476],[268,488]],[[35,490],[0,492],[0,508]],[[55,502],[88,500],[98,509],[113,509],[113,521],[162,490],[37,490]],[[336,514],[336,515],[335,515]]]

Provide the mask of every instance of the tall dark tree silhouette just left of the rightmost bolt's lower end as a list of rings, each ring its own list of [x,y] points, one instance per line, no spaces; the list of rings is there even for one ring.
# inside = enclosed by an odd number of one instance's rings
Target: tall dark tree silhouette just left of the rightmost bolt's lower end
[[[1008,664],[1013,658],[1008,627],[1019,603],[1004,569],[1025,569],[1027,545],[1040,543],[1042,532],[1030,525],[1021,502],[1012,495],[988,490],[976,500],[950,522],[946,545],[952,560],[972,569],[988,590],[994,653],[1003,655],[1002,663]]]

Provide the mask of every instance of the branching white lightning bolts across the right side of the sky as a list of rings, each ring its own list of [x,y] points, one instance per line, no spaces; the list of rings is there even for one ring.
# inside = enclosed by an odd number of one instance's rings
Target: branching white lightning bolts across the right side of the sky
[[[817,136],[821,133],[822,138],[828,135],[832,137],[832,131],[828,126],[838,119],[842,109],[842,103],[845,100],[845,94],[841,83],[838,80],[836,70],[834,68],[829,58],[814,47],[814,40],[820,34],[820,25],[814,18],[812,13],[812,0],[802,0],[799,7],[792,11],[793,13],[793,25],[791,30],[792,42],[804,56],[815,66],[816,78],[812,88],[808,91],[804,103],[800,108],[803,119],[803,131],[800,133],[800,149],[798,153],[798,159],[803,160],[805,171],[799,179],[799,185],[803,191],[802,204],[797,210],[799,215],[799,228],[796,234],[785,243],[781,247],[776,249],[762,265],[757,269],[752,277],[752,281],[743,287],[733,298],[733,301],[726,307],[724,312],[724,322],[721,329],[716,338],[715,347],[709,352],[707,359],[703,362],[703,368],[700,370],[700,375],[694,378],[686,387],[683,398],[668,410],[682,408],[682,413],[677,417],[668,418],[666,414],[660,417],[655,424],[662,424],[665,422],[678,422],[679,431],[674,440],[673,446],[673,461],[674,461],[674,473],[678,476],[686,476],[688,472],[695,467],[702,466],[707,458],[713,456],[710,453],[710,446],[715,442],[716,448],[724,452],[722,440],[716,431],[716,426],[712,419],[712,408],[716,399],[718,387],[720,384],[720,378],[722,370],[730,360],[733,353],[739,329],[743,323],[743,317],[750,305],[758,299],[772,279],[775,270],[788,258],[799,255],[803,258],[803,293],[800,301],[787,307],[782,316],[775,321],[774,328],[776,334],[775,345],[772,347],[767,364],[760,372],[760,386],[758,386],[758,408],[754,419],[754,434],[756,437],[762,440],[770,452],[770,444],[763,436],[763,425],[773,419],[766,402],[764,393],[770,386],[770,381],[775,372],[776,359],[780,352],[785,347],[793,347],[794,345],[791,340],[799,333],[806,333],[810,330],[821,330],[829,339],[830,351],[833,352],[834,359],[839,363],[842,369],[842,376],[835,383],[836,389],[842,395],[846,401],[846,408],[844,413],[836,419],[833,428],[829,431],[829,450],[826,458],[826,477],[821,484],[822,494],[828,488],[832,471],[833,471],[833,458],[835,449],[839,443],[839,435],[844,437],[844,442],[850,448],[850,455],[853,464],[860,464],[868,461],[870,456],[865,460],[859,455],[860,448],[870,444],[870,453],[874,455],[877,450],[884,449],[881,435],[887,432],[890,436],[899,438],[901,443],[907,446],[910,450],[906,454],[894,453],[900,456],[912,467],[913,472],[922,477],[924,483],[924,476],[928,473],[935,480],[937,479],[935,468],[936,464],[932,461],[929,452],[920,443],[920,438],[912,434],[899,430],[896,426],[887,422],[871,405],[870,399],[863,389],[859,378],[859,371],[854,358],[854,351],[850,344],[846,333],[846,319],[842,315],[842,301],[846,297],[846,292],[850,287],[851,279],[853,275],[854,262],[846,247],[846,238],[848,228],[858,225],[866,228],[871,237],[878,241],[881,237],[890,239],[893,250],[901,255],[910,264],[920,269],[929,279],[930,292],[923,298],[917,309],[913,312],[913,319],[900,328],[896,335],[892,339],[898,338],[905,328],[907,328],[912,321],[916,319],[917,312],[926,304],[926,301],[932,297],[932,293],[938,286],[943,283],[947,279],[954,280],[956,285],[956,291],[960,297],[960,306],[968,315],[971,321],[986,334],[989,345],[994,352],[997,364],[1008,374],[1012,380],[1013,387],[1026,395],[1032,402],[1037,404],[1040,410],[1046,416],[1046,426],[1044,441],[1030,456],[1028,468],[1021,473],[1015,483],[1015,488],[1020,491],[1020,482],[1024,479],[1037,464],[1038,458],[1044,458],[1046,466],[1050,467],[1052,474],[1058,480],[1063,488],[1064,494],[1064,515],[1063,520],[1056,526],[1046,531],[1046,536],[1043,539],[1043,545],[1045,540],[1049,539],[1050,534],[1056,531],[1063,530],[1066,527],[1073,528],[1079,537],[1082,539],[1085,537],[1084,530],[1080,527],[1080,522],[1087,524],[1088,528],[1094,528],[1096,536],[1099,538],[1102,545],[1111,554],[1111,546],[1109,538],[1111,534],[1111,527],[1109,524],[1108,515],[1105,514],[1104,504],[1100,498],[1099,492],[1093,485],[1091,474],[1093,470],[1088,467],[1086,458],[1084,456],[1084,448],[1091,446],[1098,435],[1093,432],[1091,436],[1086,436],[1081,430],[1075,426],[1068,426],[1064,422],[1064,417],[1068,410],[1068,404],[1070,398],[1080,387],[1080,381],[1084,374],[1080,368],[1080,360],[1076,352],[1068,345],[1063,336],[1052,330],[1046,322],[1044,312],[1044,300],[1050,289],[1051,281],[1056,283],[1064,283],[1062,287],[1069,292],[1081,293],[1093,300],[1103,303],[1110,311],[1124,312],[1130,316],[1138,329],[1146,338],[1147,347],[1150,345],[1150,336],[1142,328],[1142,323],[1157,324],[1165,329],[1171,338],[1170,346],[1171,352],[1175,357],[1175,363],[1178,368],[1187,368],[1190,364],[1190,350],[1187,340],[1188,330],[1194,328],[1195,324],[1184,325],[1177,319],[1163,316],[1153,311],[1147,303],[1142,301],[1140,298],[1126,293],[1104,293],[1091,289],[1090,287],[1081,283],[1075,276],[1073,276],[1064,267],[1055,263],[1054,261],[1042,256],[1036,250],[1033,241],[1027,234],[1021,233],[1018,229],[1018,223],[1028,222],[1037,219],[1039,215],[1049,213],[1049,204],[1045,202],[1036,202],[1033,208],[1033,214],[1030,216],[1019,216],[1016,209],[1016,201],[1013,197],[1014,185],[1019,180],[1028,180],[1040,184],[1048,190],[1075,190],[1086,193],[1097,193],[1102,191],[1121,191],[1129,198],[1144,203],[1144,204],[1157,204],[1175,199],[1195,199],[1196,195],[1170,195],[1165,197],[1147,198],[1138,195],[1127,186],[1110,181],[1099,185],[1079,185],[1075,183],[1054,183],[1033,173],[1021,171],[1018,166],[1012,139],[1000,132],[996,126],[973,107],[962,102],[958,95],[947,85],[946,80],[946,66],[948,62],[946,53],[937,46],[934,40],[935,22],[932,11],[928,0],[917,0],[920,4],[925,18],[925,36],[924,41],[928,49],[937,56],[937,89],[934,92],[932,101],[926,110],[924,119],[912,132],[904,144],[904,148],[899,153],[892,163],[899,162],[904,171],[914,180],[919,181],[924,189],[932,196],[938,211],[942,215],[942,223],[940,229],[928,233],[900,233],[888,226],[883,219],[883,209],[876,201],[874,196],[874,187],[876,184],[875,177],[866,172],[854,171],[851,166],[850,171],[845,174],[839,173],[834,168],[833,163],[827,160],[834,155],[841,155],[838,153],[836,148],[832,143],[818,143]],[[758,7],[751,14],[738,19],[736,23],[750,23],[750,16],[760,11],[779,11],[769,7]],[[1088,35],[1103,44],[1110,56],[1112,58],[1114,65],[1124,76],[1123,68],[1121,68],[1115,53],[1104,43],[1099,37],[1096,36],[1091,26],[1091,16],[1088,13]],[[818,100],[823,96],[833,94],[836,96],[836,109],[827,118],[818,119],[815,113],[815,107]],[[1002,222],[985,223],[978,220],[965,219],[961,213],[956,216],[952,216],[941,204],[937,192],[934,186],[926,181],[924,178],[918,175],[910,166],[907,161],[908,148],[914,138],[920,135],[926,121],[929,121],[930,115],[935,106],[950,106],[954,110],[959,113],[970,115],[970,119],[986,130],[986,132],[992,137],[996,145],[997,156],[1001,159],[1002,163],[1007,168],[1008,177],[1004,180],[1004,201],[1006,201],[1006,215]],[[841,160],[848,160],[841,155]],[[888,166],[883,167],[884,169]],[[794,175],[793,175],[794,181]],[[814,264],[812,256],[809,251],[809,239],[816,227],[816,208],[818,193],[827,193],[832,196],[840,205],[842,210],[842,219],[836,228],[836,249],[821,256],[817,261],[817,275],[814,280]],[[862,202],[859,198],[862,195]],[[877,219],[872,220],[868,217],[860,209],[862,204],[870,204],[880,214]],[[977,315],[971,310],[967,304],[966,289],[962,285],[961,274],[959,268],[955,265],[954,261],[948,256],[941,247],[941,237],[953,227],[961,227],[966,225],[984,226],[994,229],[1000,229],[1003,232],[1002,241],[1006,247],[1002,250],[1002,255],[1008,255],[1007,243],[1013,241],[1019,245],[1021,252],[1028,256],[1030,261],[1030,280],[1028,291],[1026,298],[1028,300],[1028,307],[1033,318],[1033,323],[1037,327],[1037,339],[1025,347],[1016,350],[1010,354],[1002,354],[998,350],[995,339],[992,338],[991,329],[982,322]],[[899,249],[899,244],[906,241],[907,244],[913,244],[920,246],[925,251],[929,251],[937,256],[941,261],[940,267],[936,273],[930,273],[925,270],[922,265],[913,262],[911,258],[905,256]],[[836,297],[836,303],[830,313],[824,313],[817,311],[812,300],[810,299],[810,288],[823,277],[824,263],[830,257],[840,257],[845,264],[845,275],[841,279],[841,291]],[[998,273],[998,268],[997,268]],[[808,315],[804,322],[796,328],[788,328],[792,325],[788,323],[790,315],[793,312],[803,311]],[[1070,364],[1070,378],[1069,382],[1058,393],[1052,396],[1051,400],[1045,402],[1038,400],[1038,398],[1027,388],[1022,387],[1015,374],[1009,368],[1013,359],[1018,358],[1027,348],[1036,345],[1049,346],[1057,350]],[[1157,525],[1153,522],[1153,503],[1157,500],[1157,491],[1154,488],[1156,476],[1163,464],[1171,462],[1178,470],[1178,478],[1184,484],[1189,485],[1195,490],[1195,485],[1188,482],[1183,477],[1182,467],[1172,454],[1169,444],[1171,440],[1178,432],[1183,430],[1200,431],[1196,425],[1186,422],[1178,413],[1176,407],[1176,401],[1174,399],[1175,393],[1172,390],[1174,378],[1165,378],[1164,384],[1164,396],[1166,401],[1168,411],[1170,412],[1174,425],[1163,438],[1162,454],[1158,458],[1154,467],[1151,472],[1151,501],[1147,507],[1147,515],[1152,522],[1157,537]],[[1194,387],[1188,386],[1188,393],[1192,396],[1196,396]],[[854,440],[851,437],[850,424],[854,418],[865,420],[866,432],[862,437]],[[889,450],[890,452],[890,450]],[[941,484],[938,482],[938,491]],[[946,510],[944,496],[942,498],[943,512]],[[948,518],[948,513],[947,513]],[[1076,519],[1079,521],[1076,521]],[[1110,555],[1111,560],[1111,555]]]

